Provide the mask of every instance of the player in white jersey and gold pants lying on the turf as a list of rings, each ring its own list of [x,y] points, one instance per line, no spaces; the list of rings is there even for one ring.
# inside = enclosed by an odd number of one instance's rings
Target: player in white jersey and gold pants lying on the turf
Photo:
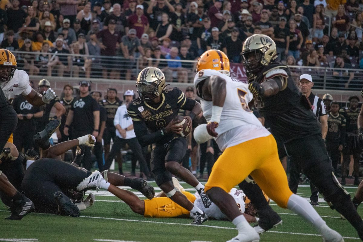
[[[105,177],[106,181],[109,181],[112,184],[114,183],[113,178],[108,178],[111,174],[115,173],[106,170],[103,172],[103,177]],[[208,218],[213,218],[215,220],[228,220],[228,217],[225,216],[225,214],[222,213],[221,210],[214,203],[212,203],[211,206],[209,206],[208,208],[205,208],[199,194],[197,192],[195,194],[192,194],[185,191],[183,186],[180,185],[178,179],[176,179],[175,177],[173,177],[173,184],[174,187],[178,189],[179,192],[183,193],[191,203],[193,203],[205,214],[207,214]],[[257,222],[258,218],[252,216],[256,215],[256,209],[251,204],[250,200],[246,197],[246,195],[242,192],[242,190],[232,188],[229,194],[234,198],[234,201],[236,202],[238,208],[240,208],[246,220],[250,223]],[[141,214],[144,217],[195,217],[194,214],[168,198],[163,191],[156,194],[156,196],[152,200],[142,200],[138,196],[136,196],[135,193],[125,189],[120,189],[117,193],[114,193],[114,195],[116,195],[122,201],[126,202],[126,204],[130,206],[132,211]],[[269,200],[267,196],[265,199]]]

